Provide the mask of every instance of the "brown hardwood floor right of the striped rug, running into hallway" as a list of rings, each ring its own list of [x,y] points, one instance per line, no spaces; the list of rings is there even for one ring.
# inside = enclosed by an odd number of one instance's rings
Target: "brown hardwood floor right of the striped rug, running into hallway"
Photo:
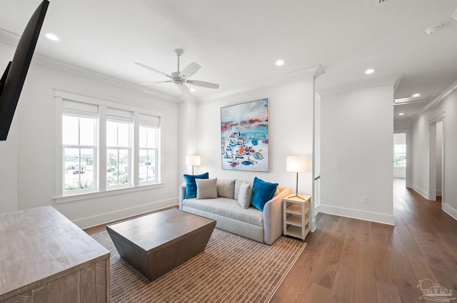
[[[271,303],[433,302],[419,299],[416,286],[426,278],[457,297],[457,221],[404,179],[393,191],[395,227],[319,214]]]

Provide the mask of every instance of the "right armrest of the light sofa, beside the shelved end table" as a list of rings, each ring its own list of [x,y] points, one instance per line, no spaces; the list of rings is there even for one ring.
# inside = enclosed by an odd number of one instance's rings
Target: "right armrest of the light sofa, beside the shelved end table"
[[[263,242],[272,245],[283,234],[283,198],[291,194],[291,188],[281,191],[263,207]]]

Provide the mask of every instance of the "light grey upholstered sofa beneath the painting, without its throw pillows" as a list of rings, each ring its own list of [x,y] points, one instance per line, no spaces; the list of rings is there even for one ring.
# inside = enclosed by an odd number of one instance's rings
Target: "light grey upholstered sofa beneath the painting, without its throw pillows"
[[[219,197],[219,190],[218,197],[185,199],[186,184],[180,185],[179,209],[216,220],[216,227],[221,230],[272,245],[283,233],[283,198],[291,194],[291,188],[278,186],[275,195],[266,202],[263,211],[252,206],[244,209],[238,204],[237,190],[245,181],[234,181],[233,199]]]

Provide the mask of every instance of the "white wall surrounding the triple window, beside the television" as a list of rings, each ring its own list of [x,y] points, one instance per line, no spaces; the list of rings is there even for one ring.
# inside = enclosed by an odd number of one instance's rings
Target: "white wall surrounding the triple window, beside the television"
[[[4,43],[0,46],[2,54],[4,50],[14,49]],[[54,159],[60,155],[54,154],[55,128],[59,127],[54,125],[54,90],[164,112],[161,119],[163,186],[56,204]],[[178,103],[143,93],[141,88],[130,84],[79,68],[69,71],[67,66],[35,56],[14,115],[14,127],[8,140],[0,144],[1,180],[11,176],[6,182],[11,188],[1,183],[2,200],[7,197],[6,205],[9,205],[1,210],[10,210],[15,204],[18,210],[52,205],[77,225],[88,227],[177,204]],[[17,158],[11,157],[14,151]]]

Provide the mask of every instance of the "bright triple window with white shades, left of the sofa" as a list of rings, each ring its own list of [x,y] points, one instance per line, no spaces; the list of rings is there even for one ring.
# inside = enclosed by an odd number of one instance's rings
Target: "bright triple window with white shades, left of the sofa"
[[[159,184],[160,114],[64,92],[56,92],[57,109],[58,200]]]

